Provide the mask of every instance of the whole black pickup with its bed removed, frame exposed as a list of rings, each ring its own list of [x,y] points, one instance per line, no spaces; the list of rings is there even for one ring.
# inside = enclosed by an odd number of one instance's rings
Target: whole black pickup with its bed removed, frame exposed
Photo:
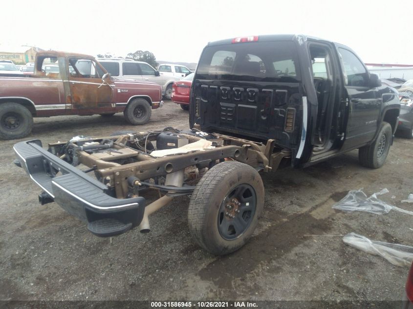
[[[305,167],[357,148],[362,165],[378,168],[400,111],[397,92],[347,46],[296,35],[209,43],[190,95],[191,130],[81,136],[47,151],[39,140],[25,141],[14,145],[15,163],[43,189],[42,204],[58,203],[98,236],[148,232],[150,214],[191,195],[194,240],[228,254],[257,226],[260,171]],[[146,205],[148,190],[164,195]]]

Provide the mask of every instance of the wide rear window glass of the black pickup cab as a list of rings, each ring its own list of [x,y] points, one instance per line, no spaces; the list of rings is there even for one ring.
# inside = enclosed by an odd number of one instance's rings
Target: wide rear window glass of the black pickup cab
[[[298,82],[297,50],[292,41],[207,46],[197,79],[252,82]]]

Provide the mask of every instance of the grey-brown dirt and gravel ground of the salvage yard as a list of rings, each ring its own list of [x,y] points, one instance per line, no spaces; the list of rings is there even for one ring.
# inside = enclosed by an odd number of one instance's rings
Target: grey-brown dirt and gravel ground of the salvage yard
[[[188,112],[166,102],[149,124],[125,123],[121,113],[35,119],[30,138],[49,142],[119,130],[188,128]],[[26,138],[27,140],[28,138]],[[201,250],[187,227],[189,197],[152,215],[137,229],[99,238],[57,204],[40,206],[40,188],[12,162],[0,141],[1,300],[399,300],[408,268],[345,245],[356,232],[372,240],[413,245],[413,218],[344,213],[331,206],[351,189],[388,188],[381,199],[400,203],[413,193],[413,140],[396,138],[386,164],[358,164],[357,150],[304,170],[262,174],[263,217],[254,236],[224,257]]]

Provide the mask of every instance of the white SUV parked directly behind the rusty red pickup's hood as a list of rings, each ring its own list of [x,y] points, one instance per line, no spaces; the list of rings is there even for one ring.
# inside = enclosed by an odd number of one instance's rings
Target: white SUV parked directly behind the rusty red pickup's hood
[[[174,81],[179,80],[177,77],[160,73],[146,62],[123,58],[98,58],[97,60],[113,77],[156,82],[161,85],[162,95],[166,100],[171,100],[172,84]]]

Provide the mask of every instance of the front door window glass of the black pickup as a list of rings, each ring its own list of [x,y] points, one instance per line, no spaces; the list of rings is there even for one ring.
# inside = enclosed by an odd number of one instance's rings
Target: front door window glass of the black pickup
[[[347,49],[339,48],[339,53],[344,66],[346,85],[367,87],[369,85],[369,74],[363,63]]]

